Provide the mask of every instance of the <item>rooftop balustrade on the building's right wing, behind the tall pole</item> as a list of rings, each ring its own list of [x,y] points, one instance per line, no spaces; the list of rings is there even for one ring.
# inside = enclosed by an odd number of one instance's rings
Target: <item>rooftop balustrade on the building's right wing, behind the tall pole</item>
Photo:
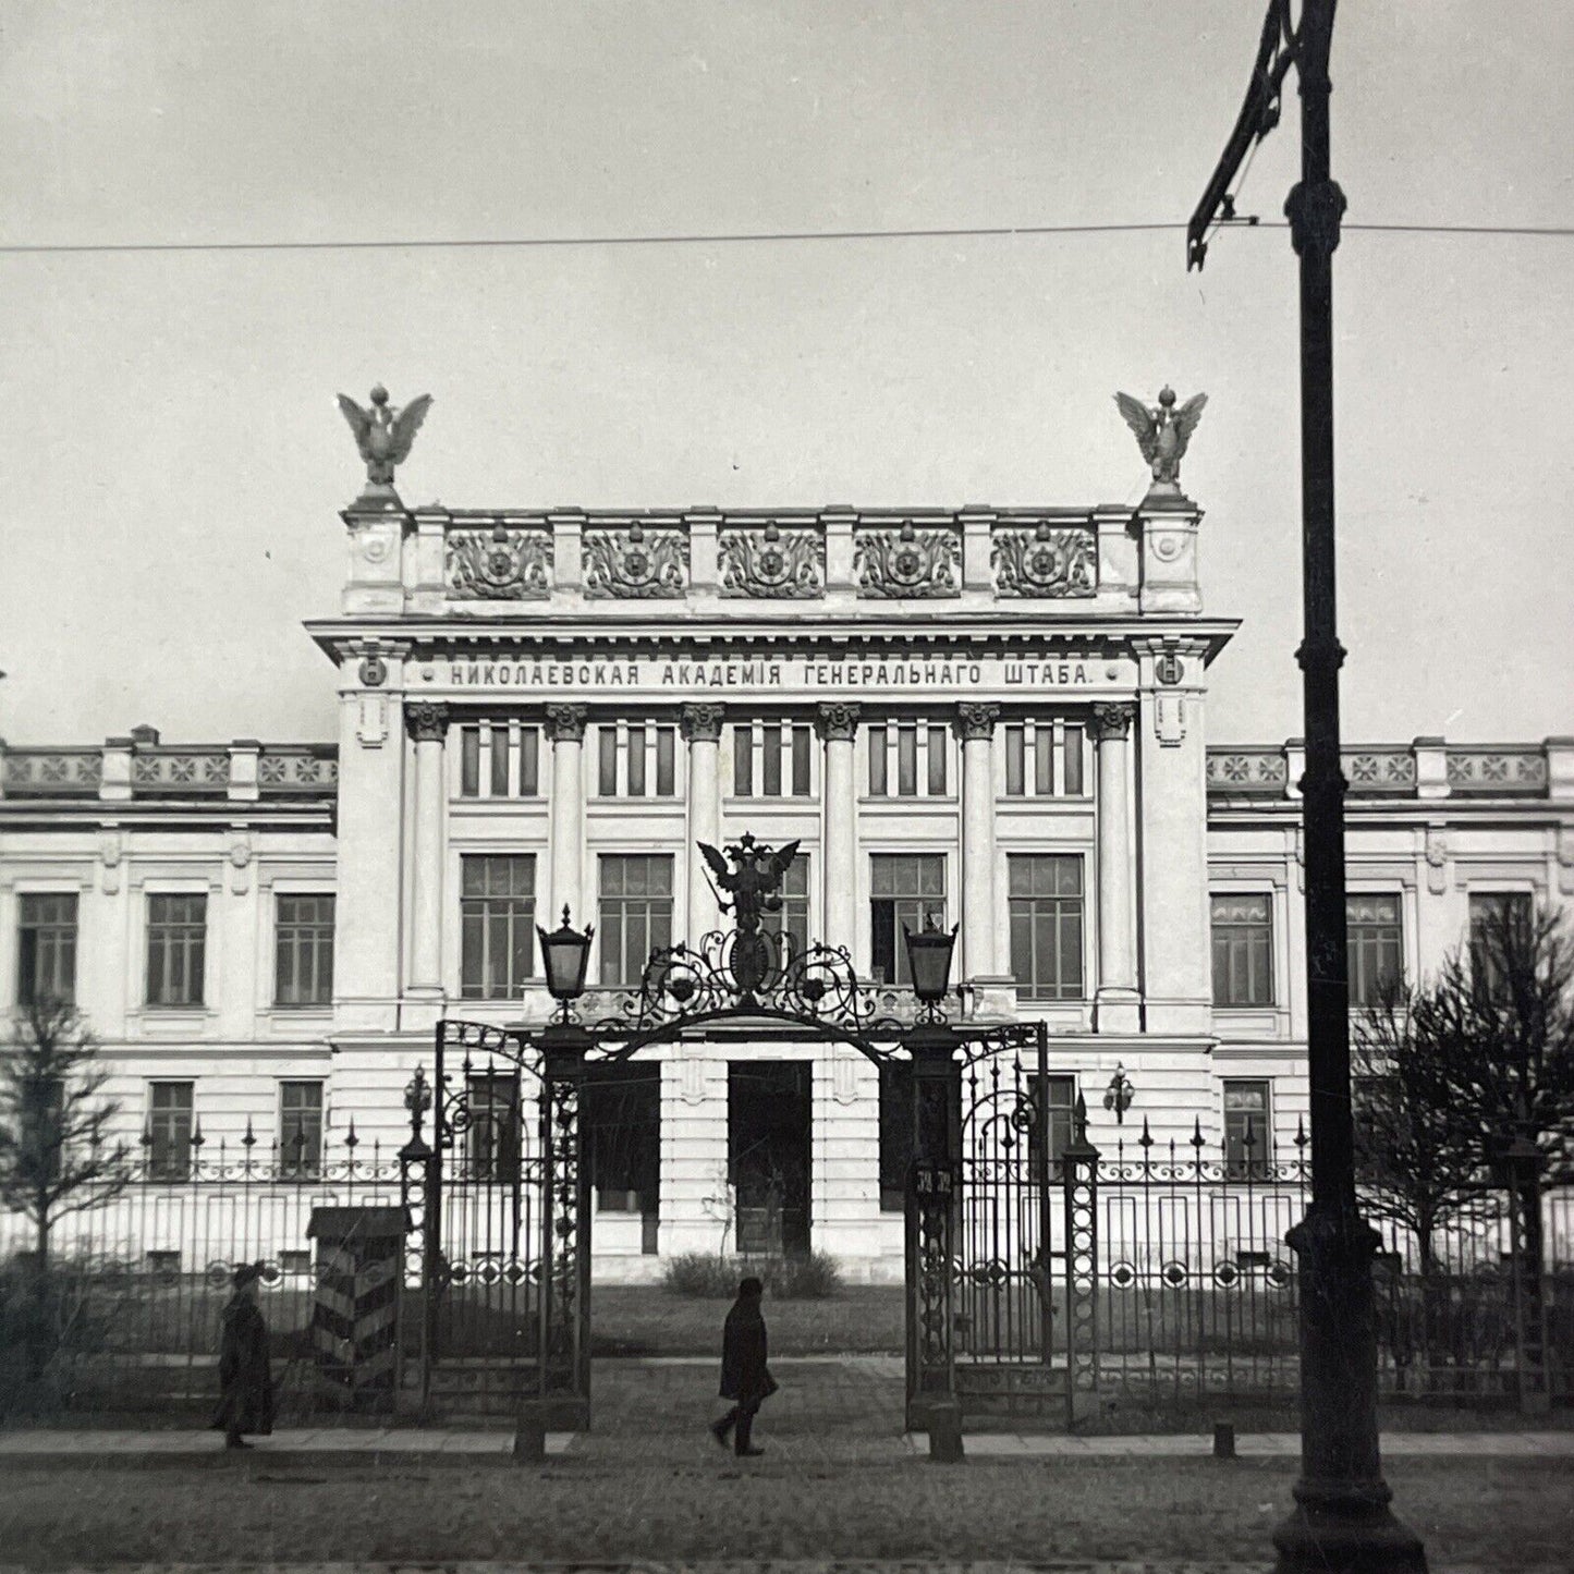
[[[1557,778],[1574,774],[1574,738],[1524,745],[1451,745],[1417,738],[1398,745],[1346,745],[1350,798],[1546,798]],[[1305,746],[1228,745],[1207,751],[1210,798],[1299,798]]]

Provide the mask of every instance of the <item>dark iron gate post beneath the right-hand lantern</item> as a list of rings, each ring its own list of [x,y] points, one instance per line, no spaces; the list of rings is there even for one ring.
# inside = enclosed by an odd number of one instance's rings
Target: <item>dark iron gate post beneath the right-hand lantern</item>
[[[954,1349],[957,1206],[962,1171],[962,1067],[949,1028],[918,1026],[913,1055],[913,1169],[907,1188],[907,1429],[959,1415]]]

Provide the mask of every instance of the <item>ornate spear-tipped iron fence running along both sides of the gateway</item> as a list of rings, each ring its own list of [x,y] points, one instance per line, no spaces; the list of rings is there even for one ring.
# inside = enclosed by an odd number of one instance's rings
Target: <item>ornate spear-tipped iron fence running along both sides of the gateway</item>
[[[1096,1243],[1069,1254],[1064,1163],[1040,1160],[1022,1122],[995,1130],[963,1154],[952,1305],[965,1387],[1023,1395],[1053,1413],[1047,1396],[1064,1395],[1073,1360],[1078,1382],[1091,1374],[1091,1393],[1146,1407],[1294,1398],[1299,1286],[1284,1236],[1310,1199],[1303,1144],[1258,1160],[1201,1138],[1118,1143],[1080,1171],[1080,1217],[1091,1210]],[[508,1152],[491,1168],[460,1165],[447,1180],[431,1336],[455,1380],[471,1368],[534,1362],[534,1163],[529,1151]],[[195,1413],[211,1404],[233,1269],[261,1261],[280,1398],[286,1412],[307,1409],[323,1270],[313,1214],[401,1206],[411,1198],[400,1171],[392,1147],[353,1136],[321,1155],[206,1143],[159,1176],[139,1158],[118,1196],[61,1217],[50,1232],[58,1292],[44,1377],[58,1406]],[[406,1177],[417,1188],[423,1179]],[[1574,1399],[1574,1187],[1543,1193],[1533,1350],[1514,1193],[1484,1187],[1440,1220],[1424,1251],[1393,1198],[1371,1193],[1363,1206],[1382,1237],[1374,1275],[1387,1396],[1480,1402],[1522,1396],[1535,1382],[1552,1401]],[[0,1212],[0,1409],[19,1391],[19,1319],[36,1316],[27,1302],[33,1251],[31,1221]],[[403,1291],[400,1338],[414,1365],[419,1254],[406,1256]],[[38,1377],[28,1374],[35,1388]]]

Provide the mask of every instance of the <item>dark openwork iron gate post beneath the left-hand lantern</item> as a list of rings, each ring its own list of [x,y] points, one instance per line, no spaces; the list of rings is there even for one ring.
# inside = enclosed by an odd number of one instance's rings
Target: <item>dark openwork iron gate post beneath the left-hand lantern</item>
[[[545,1081],[538,1406],[543,1426],[590,1426],[590,1176],[579,1100],[590,1036],[573,1023],[541,1029]]]

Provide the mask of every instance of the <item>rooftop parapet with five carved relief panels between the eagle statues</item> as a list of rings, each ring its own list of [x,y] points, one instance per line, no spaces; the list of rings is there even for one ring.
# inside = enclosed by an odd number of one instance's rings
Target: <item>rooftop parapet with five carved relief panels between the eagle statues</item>
[[[346,612],[505,612],[518,603],[1034,601],[1195,612],[1198,515],[1141,508],[345,512]]]

